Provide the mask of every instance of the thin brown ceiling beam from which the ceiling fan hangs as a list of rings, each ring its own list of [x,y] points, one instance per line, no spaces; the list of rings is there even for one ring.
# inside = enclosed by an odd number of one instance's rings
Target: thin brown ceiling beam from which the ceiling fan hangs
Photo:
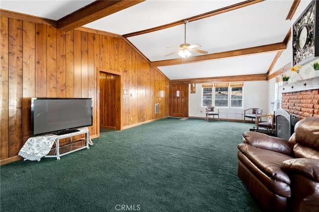
[[[146,34],[146,33],[149,33],[149,32],[158,31],[158,30],[161,30],[161,29],[166,29],[166,28],[169,28],[169,27],[173,27],[173,26],[177,26],[177,25],[180,25],[180,24],[184,24],[183,20],[185,20],[185,19],[188,20],[188,22],[191,22],[191,21],[202,19],[202,18],[210,17],[210,16],[213,16],[213,15],[221,14],[221,13],[224,13],[224,12],[228,12],[228,11],[231,11],[231,10],[234,10],[234,9],[239,9],[239,8],[244,7],[244,6],[249,6],[251,4],[258,3],[258,2],[261,2],[261,1],[264,1],[264,0],[246,0],[246,1],[243,1],[243,2],[240,2],[240,3],[236,3],[236,4],[233,4],[233,5],[226,6],[226,7],[220,8],[220,9],[216,9],[216,10],[213,10],[213,11],[210,11],[210,12],[206,12],[206,13],[203,13],[203,14],[200,14],[200,15],[192,16],[192,17],[189,17],[189,18],[184,18],[182,20],[178,20],[178,21],[175,21],[175,22],[172,22],[172,23],[168,23],[168,24],[165,24],[165,25],[161,25],[161,26],[157,26],[157,27],[154,27],[154,28],[150,28],[150,29],[145,29],[145,30],[141,30],[141,31],[138,31],[138,32],[132,32],[132,33],[124,34],[122,36],[123,37],[132,37],[132,36],[136,36],[136,35],[141,35],[141,34]]]

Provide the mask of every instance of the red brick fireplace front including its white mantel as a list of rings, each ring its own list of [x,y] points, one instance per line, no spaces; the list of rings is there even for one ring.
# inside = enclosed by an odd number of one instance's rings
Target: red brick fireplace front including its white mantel
[[[319,77],[281,86],[279,92],[282,93],[281,108],[292,117],[319,117]]]

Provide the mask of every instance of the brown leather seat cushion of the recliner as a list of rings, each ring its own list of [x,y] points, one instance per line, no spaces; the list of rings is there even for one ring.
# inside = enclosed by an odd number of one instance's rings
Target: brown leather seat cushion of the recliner
[[[238,149],[269,177],[290,184],[290,178],[281,168],[283,161],[293,157],[279,152],[261,149],[249,144],[238,144]]]

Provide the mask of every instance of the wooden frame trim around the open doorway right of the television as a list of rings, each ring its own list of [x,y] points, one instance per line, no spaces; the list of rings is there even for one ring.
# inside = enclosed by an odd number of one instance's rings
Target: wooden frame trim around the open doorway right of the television
[[[97,130],[98,136],[100,136],[100,72],[113,74],[115,78],[115,105],[117,109],[115,110],[115,128],[116,130],[122,130],[122,99],[123,99],[123,83],[122,83],[122,73],[119,71],[112,71],[103,68],[97,68]]]

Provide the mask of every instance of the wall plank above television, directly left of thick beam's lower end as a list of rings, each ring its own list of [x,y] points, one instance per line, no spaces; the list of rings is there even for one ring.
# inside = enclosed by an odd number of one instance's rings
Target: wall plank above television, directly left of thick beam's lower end
[[[46,97],[56,98],[56,28],[46,29]]]

